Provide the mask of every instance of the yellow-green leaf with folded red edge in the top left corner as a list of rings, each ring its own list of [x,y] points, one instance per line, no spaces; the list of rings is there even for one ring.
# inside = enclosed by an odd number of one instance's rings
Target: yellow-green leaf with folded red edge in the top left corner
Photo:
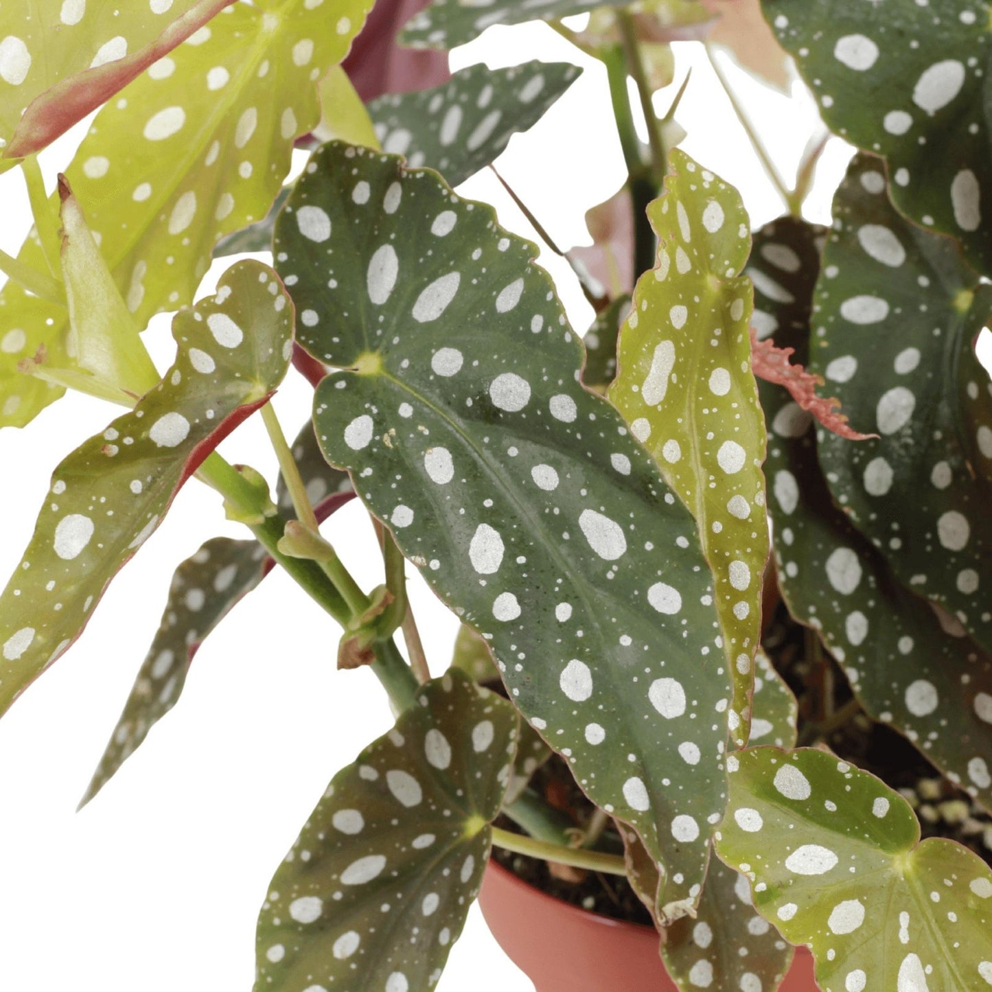
[[[40,151],[199,30],[232,0],[41,0],[0,12],[0,148]],[[12,162],[0,164],[0,169]]]

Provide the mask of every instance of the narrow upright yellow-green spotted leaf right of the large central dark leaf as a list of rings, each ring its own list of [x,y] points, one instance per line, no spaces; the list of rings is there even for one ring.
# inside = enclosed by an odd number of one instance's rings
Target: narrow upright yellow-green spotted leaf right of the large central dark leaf
[[[751,373],[751,234],[736,190],[679,149],[648,207],[658,265],[620,329],[610,401],[691,510],[733,674],[730,736],[747,742],[768,560],[765,424]]]

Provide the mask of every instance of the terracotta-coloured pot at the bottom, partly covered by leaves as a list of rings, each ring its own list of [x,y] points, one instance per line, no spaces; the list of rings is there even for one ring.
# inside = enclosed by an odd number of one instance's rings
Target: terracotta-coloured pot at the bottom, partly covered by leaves
[[[493,861],[479,905],[493,936],[537,992],[679,992],[651,927],[562,903]],[[780,992],[816,992],[805,947],[797,948]]]

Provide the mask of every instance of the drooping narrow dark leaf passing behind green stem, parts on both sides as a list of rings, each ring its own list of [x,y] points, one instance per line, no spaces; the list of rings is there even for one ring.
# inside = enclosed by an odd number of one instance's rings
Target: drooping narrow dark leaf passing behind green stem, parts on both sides
[[[293,445],[293,457],[317,520],[325,520],[351,499],[351,480],[324,461],[310,421]],[[294,519],[293,500],[282,475],[276,491],[280,512]],[[80,806],[103,788],[176,705],[203,641],[265,578],[272,564],[257,541],[212,538],[176,569],[159,629]]]

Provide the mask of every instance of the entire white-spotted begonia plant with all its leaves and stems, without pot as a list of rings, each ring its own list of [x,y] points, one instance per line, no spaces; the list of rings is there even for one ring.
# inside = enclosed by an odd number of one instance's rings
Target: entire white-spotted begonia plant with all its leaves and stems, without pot
[[[0,169],[35,220],[0,256],[0,426],[31,430],[66,390],[119,408],[60,452],[0,595],[0,712],[203,483],[244,538],[177,562],[84,801],[272,568],[339,631],[328,664],[371,668],[396,714],[328,769],[260,895],[259,992],[427,992],[500,852],[559,888],[629,886],[685,992],[772,992],[797,945],[827,992],[992,988],[988,5],[371,6],[0,10]],[[452,188],[580,69],[449,73],[445,51],[535,19],[605,65],[627,169],[579,251],[509,189],[588,328],[537,246]],[[676,41],[706,47],[778,220],[752,229],[677,147],[709,124],[676,122]],[[805,83],[857,149],[830,227],[803,216],[824,142],[787,185],[727,58]],[[38,154],[93,110],[47,191]],[[234,262],[193,305],[212,260],[249,251],[269,264]],[[169,368],[141,336],[162,311]],[[313,387],[295,441],[269,402],[287,375]],[[256,413],[278,479],[215,450]],[[320,534],[352,499],[375,588]],[[412,569],[463,625],[439,678]]]

